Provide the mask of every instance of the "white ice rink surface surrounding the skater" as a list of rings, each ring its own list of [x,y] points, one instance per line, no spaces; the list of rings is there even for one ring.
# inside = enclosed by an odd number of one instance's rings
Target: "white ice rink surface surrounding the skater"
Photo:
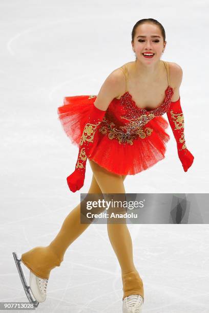
[[[91,184],[88,163],[85,185],[76,193],[67,186],[78,149],[61,128],[57,107],[66,96],[97,95],[114,69],[135,59],[131,31],[139,19],[160,21],[167,41],[162,60],[183,70],[185,139],[195,161],[185,173],[169,128],[166,158],[127,176],[126,192],[208,192],[208,7],[206,0],[0,1],[0,301],[27,301],[12,252],[48,245]],[[129,229],[144,283],[143,313],[208,313],[208,225]],[[120,266],[107,225],[91,225],[51,272],[47,300],[36,311],[119,313],[121,306]]]

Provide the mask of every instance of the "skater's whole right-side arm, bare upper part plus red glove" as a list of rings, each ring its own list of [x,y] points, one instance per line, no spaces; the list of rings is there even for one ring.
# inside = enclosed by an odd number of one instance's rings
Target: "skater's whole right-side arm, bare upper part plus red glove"
[[[171,102],[169,110],[167,111],[167,116],[169,119],[169,123],[171,125],[176,144],[179,159],[182,163],[184,172],[191,167],[194,157],[192,153],[187,149],[184,138],[184,116],[180,104],[180,95],[179,95],[179,87],[181,85],[183,72],[179,65],[175,64],[175,85],[174,94],[172,99],[174,101]]]

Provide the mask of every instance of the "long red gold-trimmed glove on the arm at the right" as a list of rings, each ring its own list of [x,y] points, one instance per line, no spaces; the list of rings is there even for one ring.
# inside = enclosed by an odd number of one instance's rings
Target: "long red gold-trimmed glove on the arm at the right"
[[[194,161],[192,153],[187,149],[184,139],[184,117],[180,104],[180,97],[177,101],[171,102],[167,111],[169,123],[177,143],[178,156],[182,163],[184,172],[191,167]]]

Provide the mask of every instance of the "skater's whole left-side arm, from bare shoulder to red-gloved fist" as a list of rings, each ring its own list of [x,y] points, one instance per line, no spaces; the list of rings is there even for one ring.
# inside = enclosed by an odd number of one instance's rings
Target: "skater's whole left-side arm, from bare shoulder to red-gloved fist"
[[[102,84],[95,102],[91,105],[88,123],[83,128],[80,139],[78,158],[74,172],[67,177],[67,183],[72,192],[79,190],[84,183],[86,163],[94,146],[94,135],[106,114],[111,101],[118,97],[123,86],[124,77],[120,70],[113,71]]]

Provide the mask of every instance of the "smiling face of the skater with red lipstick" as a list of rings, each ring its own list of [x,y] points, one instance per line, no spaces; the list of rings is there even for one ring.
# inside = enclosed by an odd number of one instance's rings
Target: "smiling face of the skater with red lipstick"
[[[153,37],[156,36],[156,37]],[[151,64],[160,59],[162,51],[166,46],[160,28],[154,24],[142,24],[136,28],[132,49],[138,60],[143,63]],[[154,53],[152,57],[145,57],[143,53]]]

